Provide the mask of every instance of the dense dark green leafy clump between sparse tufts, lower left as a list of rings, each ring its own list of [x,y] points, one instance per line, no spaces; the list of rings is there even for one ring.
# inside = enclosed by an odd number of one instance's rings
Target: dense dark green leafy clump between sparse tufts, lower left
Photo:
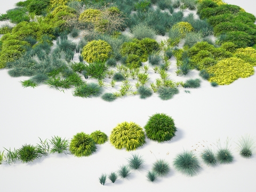
[[[22,145],[22,147],[17,150],[17,154],[22,163],[28,163],[40,157],[36,147],[27,144]]]

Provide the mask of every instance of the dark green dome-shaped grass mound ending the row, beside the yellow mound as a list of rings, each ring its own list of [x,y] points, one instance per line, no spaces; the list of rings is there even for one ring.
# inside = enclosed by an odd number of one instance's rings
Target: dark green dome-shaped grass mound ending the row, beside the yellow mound
[[[157,142],[170,141],[177,131],[172,117],[163,113],[151,116],[144,129],[147,137]]]

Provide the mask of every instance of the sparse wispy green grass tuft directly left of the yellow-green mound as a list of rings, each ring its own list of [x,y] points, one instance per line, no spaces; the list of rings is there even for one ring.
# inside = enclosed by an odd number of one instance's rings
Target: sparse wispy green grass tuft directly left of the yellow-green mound
[[[51,149],[50,149],[50,153],[67,153],[68,151],[68,140],[61,139],[61,137],[59,136],[54,136],[52,137],[52,139],[50,140],[51,142]]]

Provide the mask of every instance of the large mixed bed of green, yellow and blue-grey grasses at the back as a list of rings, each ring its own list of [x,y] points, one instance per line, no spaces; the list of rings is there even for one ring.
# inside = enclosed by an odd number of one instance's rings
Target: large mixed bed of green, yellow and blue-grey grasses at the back
[[[197,10],[200,19],[184,17],[185,9]],[[0,68],[12,77],[29,76],[24,87],[47,84],[105,101],[154,93],[168,100],[183,87],[200,86],[193,79],[172,81],[171,58],[177,75],[196,69],[212,86],[249,77],[256,66],[255,16],[220,0],[27,0],[0,15],[7,19],[15,26],[0,28]],[[157,42],[163,35],[168,38]],[[150,70],[159,78],[152,81]]]

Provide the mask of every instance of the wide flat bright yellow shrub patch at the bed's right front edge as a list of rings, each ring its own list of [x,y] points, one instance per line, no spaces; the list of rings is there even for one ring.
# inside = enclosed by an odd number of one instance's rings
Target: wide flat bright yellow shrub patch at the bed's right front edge
[[[214,74],[209,78],[210,82],[219,85],[228,85],[236,79],[249,77],[254,74],[252,65],[239,58],[228,58],[219,61],[216,65],[207,68],[207,72]]]

